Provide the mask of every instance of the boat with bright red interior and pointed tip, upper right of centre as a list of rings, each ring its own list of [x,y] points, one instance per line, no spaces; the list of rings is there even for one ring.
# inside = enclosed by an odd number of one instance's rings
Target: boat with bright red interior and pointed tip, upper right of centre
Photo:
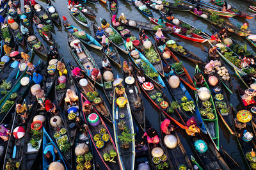
[[[158,22],[158,19],[154,19],[152,17],[148,17],[150,19],[151,22],[153,22],[154,24],[157,24],[159,25],[157,22]],[[175,26],[169,22],[166,22],[165,24],[167,27],[176,27],[177,29],[181,29],[181,27],[179,26]],[[175,33],[175,31],[173,32],[174,35],[177,35],[177,36],[180,36],[181,38],[184,38],[186,40],[190,40],[192,42],[200,42],[200,43],[204,43],[204,42],[207,42],[208,38],[205,38],[203,36],[200,36],[200,35],[196,35],[195,33],[191,33],[189,36],[187,35],[182,35],[180,33]]]

